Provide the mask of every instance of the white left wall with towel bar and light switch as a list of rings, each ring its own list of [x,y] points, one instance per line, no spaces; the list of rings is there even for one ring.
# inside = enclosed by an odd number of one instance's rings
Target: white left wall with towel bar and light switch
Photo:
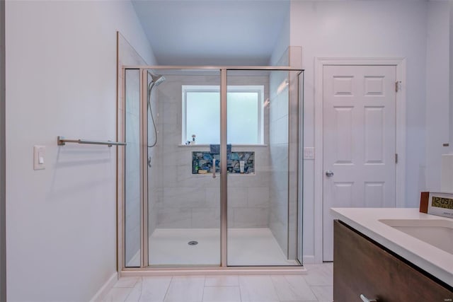
[[[115,139],[116,30],[152,62],[129,1],[6,2],[8,301],[88,301],[115,274],[115,147],[56,139]]]

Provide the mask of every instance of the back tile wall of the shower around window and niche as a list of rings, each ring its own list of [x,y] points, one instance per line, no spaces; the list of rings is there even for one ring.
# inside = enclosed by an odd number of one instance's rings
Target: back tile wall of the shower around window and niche
[[[268,76],[230,77],[229,85],[264,85],[266,99],[268,81]],[[181,85],[219,85],[219,76],[166,76],[166,81],[156,88],[159,148],[153,169],[161,176],[161,195],[153,206],[156,216],[150,217],[156,220],[157,228],[218,228],[219,178],[192,175],[192,152],[209,151],[209,147],[180,146]],[[265,144],[267,121],[265,112]],[[256,175],[229,176],[229,227],[268,227],[268,146],[233,146],[233,150],[255,151]],[[149,183],[152,181],[151,178]]]

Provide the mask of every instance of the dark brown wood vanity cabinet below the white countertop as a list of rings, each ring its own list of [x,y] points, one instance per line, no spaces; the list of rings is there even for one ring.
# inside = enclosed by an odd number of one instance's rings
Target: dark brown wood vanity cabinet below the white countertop
[[[453,289],[399,259],[341,221],[334,221],[333,301],[453,301]]]

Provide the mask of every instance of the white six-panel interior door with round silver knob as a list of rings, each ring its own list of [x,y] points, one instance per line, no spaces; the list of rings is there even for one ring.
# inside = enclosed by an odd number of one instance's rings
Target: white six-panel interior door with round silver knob
[[[323,66],[323,261],[331,207],[395,207],[396,66]]]

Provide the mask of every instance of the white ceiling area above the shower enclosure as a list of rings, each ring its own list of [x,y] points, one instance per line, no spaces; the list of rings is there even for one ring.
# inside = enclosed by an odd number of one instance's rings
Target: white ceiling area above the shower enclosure
[[[268,65],[287,0],[132,0],[160,65]]]

